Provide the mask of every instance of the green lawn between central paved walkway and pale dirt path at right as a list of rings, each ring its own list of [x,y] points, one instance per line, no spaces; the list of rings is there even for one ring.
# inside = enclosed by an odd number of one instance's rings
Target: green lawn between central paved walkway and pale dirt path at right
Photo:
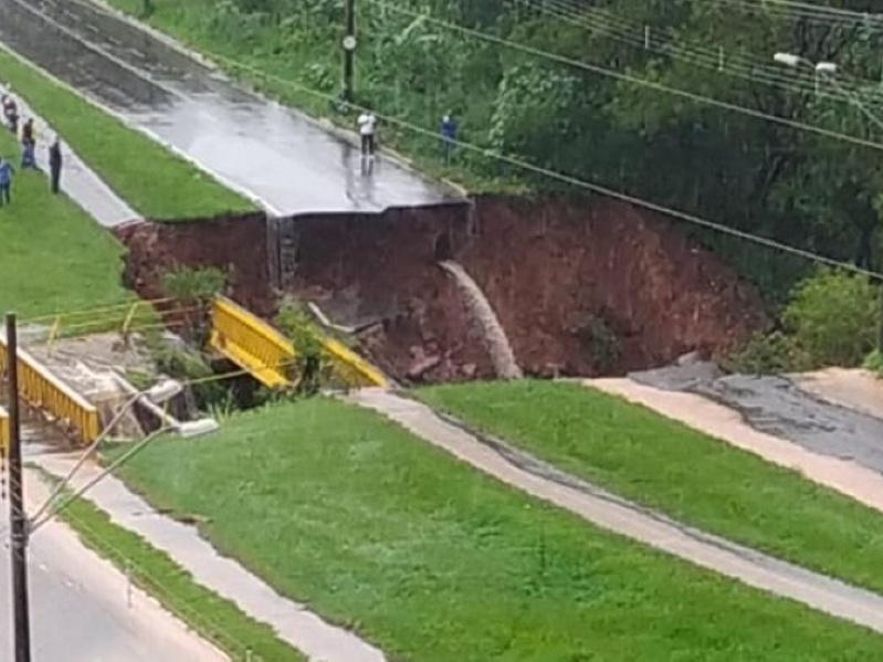
[[[417,395],[620,496],[883,593],[883,516],[797,472],[579,385],[487,382]]]

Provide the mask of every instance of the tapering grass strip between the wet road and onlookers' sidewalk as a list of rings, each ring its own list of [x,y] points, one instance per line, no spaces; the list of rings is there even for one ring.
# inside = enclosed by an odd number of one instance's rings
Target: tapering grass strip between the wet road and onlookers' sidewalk
[[[254,204],[0,48],[9,82],[116,193],[149,219],[200,218]]]

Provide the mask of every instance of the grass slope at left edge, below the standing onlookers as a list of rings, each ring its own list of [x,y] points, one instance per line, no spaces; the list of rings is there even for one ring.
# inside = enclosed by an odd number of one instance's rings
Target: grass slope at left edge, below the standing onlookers
[[[0,129],[0,154],[19,148]],[[119,281],[122,246],[45,176],[17,171],[12,206],[0,207],[0,312],[23,317],[128,298]]]

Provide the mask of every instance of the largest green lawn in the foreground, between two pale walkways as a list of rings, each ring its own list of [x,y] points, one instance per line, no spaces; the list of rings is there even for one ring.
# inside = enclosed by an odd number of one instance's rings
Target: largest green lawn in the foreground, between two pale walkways
[[[870,630],[602,532],[334,400],[158,440],[124,477],[392,660],[883,659]]]

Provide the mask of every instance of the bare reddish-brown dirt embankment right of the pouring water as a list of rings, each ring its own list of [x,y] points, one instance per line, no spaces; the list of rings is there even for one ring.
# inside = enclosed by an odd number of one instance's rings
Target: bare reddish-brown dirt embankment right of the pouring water
[[[602,197],[484,199],[476,214],[480,238],[458,259],[527,370],[621,374],[708,356],[763,324],[756,291],[658,214]]]

